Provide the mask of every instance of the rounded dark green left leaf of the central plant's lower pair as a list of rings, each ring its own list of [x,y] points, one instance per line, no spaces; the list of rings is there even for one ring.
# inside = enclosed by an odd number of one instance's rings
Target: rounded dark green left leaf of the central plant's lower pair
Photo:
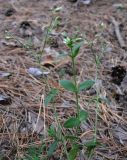
[[[71,117],[64,123],[64,127],[65,128],[78,127],[80,125],[80,123],[81,122],[80,122],[80,120],[78,118]]]

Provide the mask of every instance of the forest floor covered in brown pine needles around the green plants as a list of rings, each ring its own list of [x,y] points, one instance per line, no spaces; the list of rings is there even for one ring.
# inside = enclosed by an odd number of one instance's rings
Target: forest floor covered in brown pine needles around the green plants
[[[55,7],[61,7],[59,19],[44,46]],[[80,107],[89,114],[80,126],[80,142],[94,137],[97,109],[92,100],[98,88],[96,138],[101,145],[91,160],[127,160],[127,1],[95,0],[76,7],[67,0],[0,0],[0,23],[0,160],[67,159],[63,144],[47,157],[53,142],[49,127],[58,132],[58,120],[63,126],[76,113],[75,96],[59,85],[73,76],[65,33],[85,40],[76,59],[78,81],[96,80],[79,94]],[[41,75],[35,75],[36,68]],[[59,93],[46,107],[51,88]],[[66,133],[74,136],[75,130],[63,127]],[[71,144],[65,145],[69,152]],[[76,159],[88,160],[86,148]]]

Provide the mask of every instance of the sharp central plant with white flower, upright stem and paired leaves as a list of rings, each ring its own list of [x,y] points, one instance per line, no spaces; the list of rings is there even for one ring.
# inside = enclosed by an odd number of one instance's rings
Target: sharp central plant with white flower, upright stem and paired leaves
[[[81,82],[80,84],[77,83],[77,76],[76,76],[76,57],[79,54],[80,47],[82,45],[82,41],[80,38],[69,38],[66,37],[64,39],[64,43],[67,47],[70,49],[70,58],[72,61],[72,72],[73,72],[73,80],[61,80],[60,84],[61,86],[71,91],[75,94],[76,99],[76,108],[77,108],[77,115],[76,117],[69,118],[65,124],[65,128],[73,128],[73,127],[79,127],[81,122],[85,121],[88,118],[88,113],[84,110],[80,110],[79,106],[79,93],[82,90],[89,89],[93,86],[94,81],[93,80],[86,80],[84,82]]]

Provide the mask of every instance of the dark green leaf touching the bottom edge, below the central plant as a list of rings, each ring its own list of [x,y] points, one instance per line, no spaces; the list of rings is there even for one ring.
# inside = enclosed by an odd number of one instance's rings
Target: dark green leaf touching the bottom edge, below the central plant
[[[80,151],[80,148],[78,145],[73,145],[72,149],[69,152],[69,160],[75,160],[78,153]]]

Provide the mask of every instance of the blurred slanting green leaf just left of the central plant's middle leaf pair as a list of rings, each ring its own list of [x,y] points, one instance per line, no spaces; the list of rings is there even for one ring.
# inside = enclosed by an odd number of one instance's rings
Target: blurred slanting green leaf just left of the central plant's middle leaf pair
[[[48,93],[48,95],[45,98],[45,106],[48,106],[48,104],[54,100],[55,96],[58,94],[58,90],[55,88],[52,88],[51,91]]]

